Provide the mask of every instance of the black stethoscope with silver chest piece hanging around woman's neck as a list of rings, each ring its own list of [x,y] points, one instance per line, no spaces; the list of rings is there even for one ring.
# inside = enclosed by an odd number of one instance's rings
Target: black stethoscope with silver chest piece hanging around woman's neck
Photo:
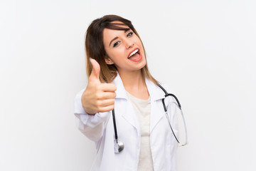
[[[181,103],[179,103],[178,101],[178,98],[176,97],[176,95],[174,94],[171,94],[171,93],[167,93],[167,91],[159,84],[157,83],[157,86],[159,86],[159,88],[161,88],[161,90],[164,91],[165,95],[164,97],[166,98],[167,96],[171,95],[172,97],[175,98],[177,104],[178,105],[178,108],[181,110]],[[171,128],[171,132],[174,134],[174,138],[176,139],[176,141],[178,142],[178,146],[184,146],[184,145],[187,145],[188,144],[188,135],[187,135],[187,130],[186,130],[186,122],[185,122],[185,118],[183,116],[183,112],[181,110],[181,115],[182,115],[182,118],[183,118],[183,125],[184,125],[184,130],[185,130],[185,133],[186,133],[186,139],[185,139],[185,143],[181,144],[179,141],[178,141],[178,138],[176,137],[175,133],[174,133],[174,130],[173,128],[171,127],[171,123],[170,123],[170,120],[169,120],[169,115],[167,113],[167,108],[166,108],[166,105],[164,103],[164,99],[162,99],[162,103],[163,103],[163,106],[164,106],[164,112],[166,113],[166,118],[168,120],[168,123],[169,123],[169,126]],[[119,152],[122,152],[122,150],[124,150],[124,142],[122,142],[121,140],[118,140],[118,136],[117,136],[117,125],[116,125],[116,121],[115,121],[115,117],[114,117],[114,109],[112,110],[112,118],[113,118],[113,125],[114,125],[114,153],[119,153]]]

